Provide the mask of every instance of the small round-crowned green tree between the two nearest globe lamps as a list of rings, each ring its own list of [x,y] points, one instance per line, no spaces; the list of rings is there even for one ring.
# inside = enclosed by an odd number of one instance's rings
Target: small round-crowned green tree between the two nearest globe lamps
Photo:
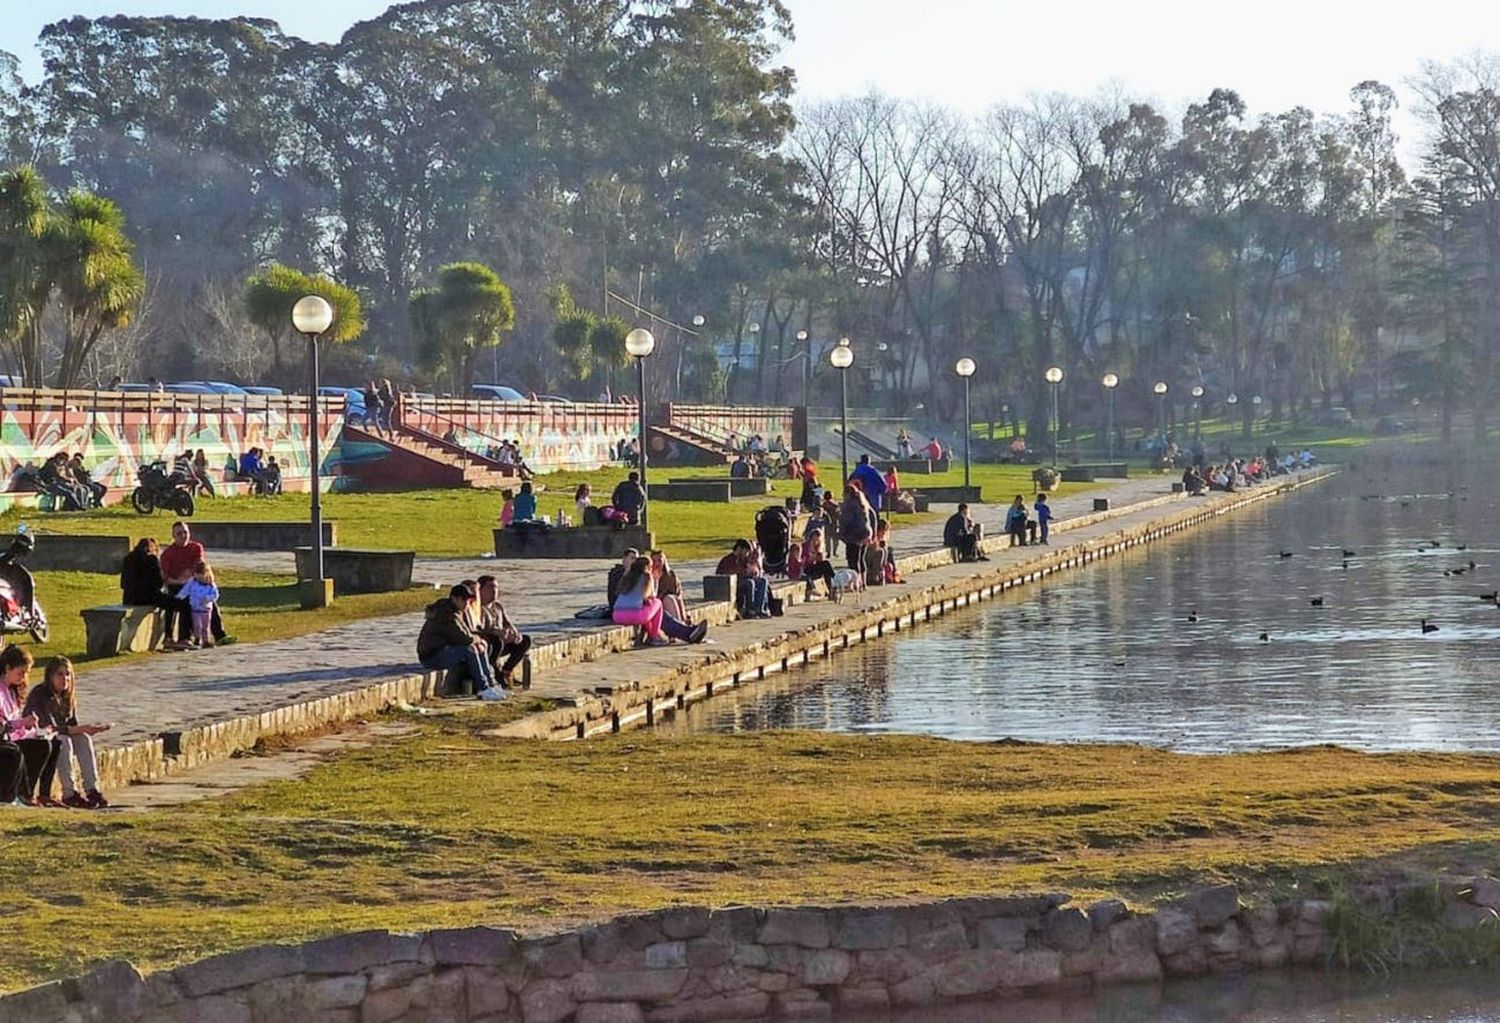
[[[462,394],[474,382],[480,351],[500,345],[516,326],[510,288],[480,262],[441,267],[436,286],[412,291],[408,309],[417,357],[428,369],[448,375]]]

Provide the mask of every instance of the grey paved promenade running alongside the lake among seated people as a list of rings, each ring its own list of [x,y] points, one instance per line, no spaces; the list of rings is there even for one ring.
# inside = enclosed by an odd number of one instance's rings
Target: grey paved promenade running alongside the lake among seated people
[[[1167,477],[1100,483],[1089,492],[1056,498],[1053,508],[1059,520],[1065,520],[1090,512],[1092,500],[1101,494],[1108,494],[1116,507],[1130,506],[1161,496],[1170,489],[1168,483]],[[990,536],[999,531],[998,522],[1004,512],[1004,506],[980,507],[980,520]],[[906,526],[897,524],[894,528],[898,555],[942,546],[942,520]],[[214,562],[290,567],[290,558],[278,554],[214,552]],[[712,572],[714,564],[688,561],[675,566],[688,594],[698,591],[699,579]],[[598,621],[578,620],[573,614],[603,603],[609,566],[608,561],[430,560],[418,562],[417,578],[446,586],[462,578],[494,572],[501,578],[512,616],[534,636],[534,642],[544,644],[558,636],[602,627]],[[957,570],[963,572],[962,567]],[[717,628],[716,636],[722,644],[740,642],[741,638],[754,642],[762,632],[795,627],[800,615],[816,614],[824,606],[807,604],[806,610],[794,608],[788,618],[774,620],[780,622],[777,626],[735,622]],[[230,624],[232,627],[232,621]],[[255,714],[411,675],[418,670],[414,646],[420,627],[422,615],[406,614],[274,642],[237,644],[220,650],[156,654],[111,666],[88,666],[80,684],[81,699],[88,718],[114,723],[114,729],[102,736],[106,746],[134,742],[165,730]],[[660,652],[651,651],[651,656]],[[638,656],[640,654],[630,654]],[[603,674],[612,670],[615,669]],[[537,692],[552,693],[561,684],[572,684],[564,682],[564,678],[573,678],[564,672],[558,674],[556,681],[549,681],[550,672],[538,675]],[[600,674],[596,670],[594,676]]]

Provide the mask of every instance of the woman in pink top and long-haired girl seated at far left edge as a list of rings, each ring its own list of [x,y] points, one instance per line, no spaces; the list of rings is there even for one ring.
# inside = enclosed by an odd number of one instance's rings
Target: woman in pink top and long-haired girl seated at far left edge
[[[78,720],[74,663],[52,657],[27,692],[30,672],[30,651],[15,644],[0,650],[0,806],[108,807],[93,736],[110,726]],[[60,800],[52,796],[54,778],[62,780]]]

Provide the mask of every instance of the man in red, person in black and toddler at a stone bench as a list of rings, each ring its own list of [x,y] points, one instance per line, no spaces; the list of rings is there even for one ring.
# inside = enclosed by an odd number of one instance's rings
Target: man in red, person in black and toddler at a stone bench
[[[166,650],[232,644],[219,612],[219,586],[202,544],[186,522],[172,524],[172,542],[162,548],[141,538],[120,566],[122,603],[160,608],[166,614]]]

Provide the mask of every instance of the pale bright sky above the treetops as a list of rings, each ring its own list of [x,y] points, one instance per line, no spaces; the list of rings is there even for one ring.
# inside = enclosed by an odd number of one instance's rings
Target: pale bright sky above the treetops
[[[1184,0],[784,0],[796,40],[783,60],[800,96],[825,99],[868,88],[978,112],[1028,93],[1089,94],[1119,87],[1176,111],[1220,86],[1256,112],[1294,105],[1347,108],[1352,86],[1396,87],[1402,150],[1418,144],[1404,82],[1422,60],[1500,48],[1500,4],[1425,0],[1262,0],[1254,6]],[[334,40],[378,15],[387,0],[0,0],[0,50],[40,75],[36,36],[72,15],[170,14],[273,18],[294,34]]]

